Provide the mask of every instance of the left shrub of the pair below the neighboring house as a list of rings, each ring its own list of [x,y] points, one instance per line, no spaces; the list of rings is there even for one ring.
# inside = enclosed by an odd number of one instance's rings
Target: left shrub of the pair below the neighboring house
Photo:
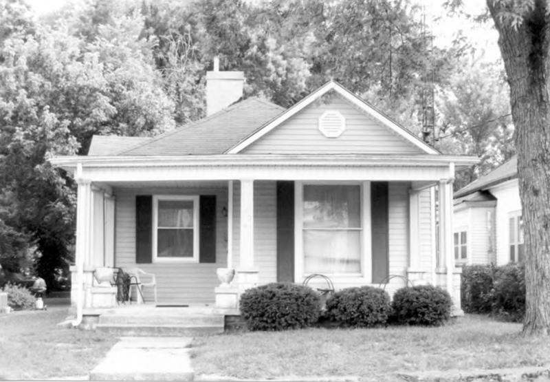
[[[494,272],[493,265],[470,265],[462,268],[461,299],[465,312],[492,312]]]

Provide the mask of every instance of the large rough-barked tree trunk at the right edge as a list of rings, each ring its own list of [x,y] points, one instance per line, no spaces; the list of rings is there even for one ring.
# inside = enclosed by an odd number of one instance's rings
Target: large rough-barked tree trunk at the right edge
[[[525,334],[550,334],[550,57],[547,3],[487,0],[510,85],[525,231]],[[521,2],[519,2],[521,3]],[[525,5],[525,3],[524,3]],[[516,6],[517,7],[517,6]],[[517,19],[502,12],[517,12]],[[506,223],[506,222],[503,222]]]

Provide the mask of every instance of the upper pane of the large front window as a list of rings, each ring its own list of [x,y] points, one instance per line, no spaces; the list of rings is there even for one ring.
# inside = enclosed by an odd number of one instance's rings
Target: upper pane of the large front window
[[[360,228],[359,186],[304,186],[305,228]]]

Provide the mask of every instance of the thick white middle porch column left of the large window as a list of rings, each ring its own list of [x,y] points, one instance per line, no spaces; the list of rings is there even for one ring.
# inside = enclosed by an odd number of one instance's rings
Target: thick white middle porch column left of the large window
[[[254,268],[254,180],[241,180],[241,240],[237,283],[246,289],[258,282]]]

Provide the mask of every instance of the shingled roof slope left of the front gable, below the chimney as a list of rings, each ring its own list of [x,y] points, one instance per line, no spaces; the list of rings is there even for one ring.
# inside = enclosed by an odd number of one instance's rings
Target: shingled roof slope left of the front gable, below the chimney
[[[181,156],[225,153],[285,109],[261,98],[234,103],[212,116],[154,138],[94,136],[88,155]],[[96,142],[97,140],[97,142]],[[102,147],[105,145],[105,147]],[[111,150],[112,149],[112,150]],[[109,151],[111,150],[111,151]],[[101,153],[101,154],[98,154]]]

